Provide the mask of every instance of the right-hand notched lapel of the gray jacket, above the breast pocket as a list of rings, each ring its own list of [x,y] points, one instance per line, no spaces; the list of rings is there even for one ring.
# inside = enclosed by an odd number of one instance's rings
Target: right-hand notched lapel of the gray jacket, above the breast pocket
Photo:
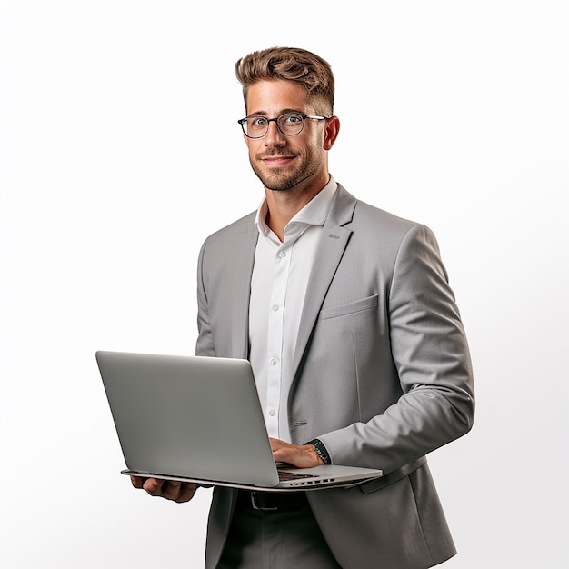
[[[314,265],[304,297],[303,314],[294,349],[293,385],[297,381],[300,364],[324,303],[324,297],[342,260],[350,235],[352,235],[352,230],[343,225],[352,221],[355,203],[354,196],[348,194],[344,187],[338,185],[334,204],[324,223],[322,237],[316,249]]]

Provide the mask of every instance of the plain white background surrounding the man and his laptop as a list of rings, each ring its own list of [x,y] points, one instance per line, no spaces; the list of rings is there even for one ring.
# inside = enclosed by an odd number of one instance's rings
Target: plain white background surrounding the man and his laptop
[[[439,239],[478,400],[430,456],[444,566],[566,567],[568,29],[561,0],[0,0],[2,567],[203,563],[208,491],[118,474],[95,350],[194,353],[198,248],[261,198],[235,60],[272,45],[334,68],[336,180]]]

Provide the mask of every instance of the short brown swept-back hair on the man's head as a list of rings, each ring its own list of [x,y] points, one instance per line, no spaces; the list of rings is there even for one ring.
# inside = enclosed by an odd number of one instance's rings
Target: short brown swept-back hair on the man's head
[[[235,63],[235,75],[247,91],[258,81],[286,79],[303,85],[312,105],[323,105],[317,113],[334,113],[334,75],[322,57],[296,47],[270,47],[245,55]]]

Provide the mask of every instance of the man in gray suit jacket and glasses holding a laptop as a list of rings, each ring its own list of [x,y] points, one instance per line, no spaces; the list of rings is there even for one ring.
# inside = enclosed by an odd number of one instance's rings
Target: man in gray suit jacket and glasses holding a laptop
[[[205,565],[440,564],[455,550],[425,454],[470,430],[474,389],[434,235],[330,175],[340,123],[322,58],[272,48],[235,68],[265,199],[203,245],[196,354],[250,359],[277,462],[385,475],[304,494],[216,488]],[[144,488],[177,502],[196,490]]]

